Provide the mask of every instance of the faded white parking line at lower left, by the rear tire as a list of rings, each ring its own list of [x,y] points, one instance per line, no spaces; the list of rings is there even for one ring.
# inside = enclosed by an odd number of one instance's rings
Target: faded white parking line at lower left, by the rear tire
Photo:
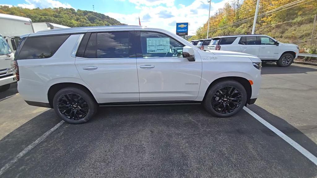
[[[28,153],[32,148],[34,148],[37,144],[42,142],[49,134],[51,134],[54,130],[56,130],[58,127],[61,126],[65,121],[61,121],[58,124],[56,124],[53,128],[51,128],[49,131],[45,132],[41,137],[36,139],[33,143],[31,143],[28,147],[23,149],[16,157],[14,157],[9,163],[3,166],[3,168],[0,169],[0,176],[4,173],[5,170],[7,170],[13,163],[15,163],[18,159],[20,159],[22,156],[24,156],[26,153]]]

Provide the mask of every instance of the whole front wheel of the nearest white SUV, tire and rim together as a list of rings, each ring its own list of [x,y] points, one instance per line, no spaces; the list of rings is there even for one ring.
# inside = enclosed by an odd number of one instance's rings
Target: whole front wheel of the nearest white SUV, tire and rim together
[[[222,91],[223,94],[221,94],[219,90]],[[238,97],[239,95],[240,97]],[[213,116],[225,118],[241,111],[246,102],[247,92],[239,82],[234,80],[223,80],[214,84],[207,91],[203,105]],[[229,108],[227,107],[228,104]],[[225,107],[223,107],[223,105],[225,105]]]

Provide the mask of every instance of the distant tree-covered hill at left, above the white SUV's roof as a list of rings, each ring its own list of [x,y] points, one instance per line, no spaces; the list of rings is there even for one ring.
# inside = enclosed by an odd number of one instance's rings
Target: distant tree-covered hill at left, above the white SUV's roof
[[[72,8],[26,9],[0,6],[0,13],[27,17],[32,22],[50,22],[68,27],[126,25],[104,14]]]

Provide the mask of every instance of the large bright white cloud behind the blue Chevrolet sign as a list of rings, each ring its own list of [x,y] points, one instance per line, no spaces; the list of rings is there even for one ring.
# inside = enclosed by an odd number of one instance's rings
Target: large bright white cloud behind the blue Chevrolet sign
[[[140,16],[142,26],[165,29],[171,31],[172,33],[176,33],[176,22],[189,22],[189,35],[195,35],[194,33],[196,30],[208,20],[209,3],[207,3],[207,0],[195,0],[188,6],[183,4],[174,4],[174,1],[172,2],[171,0],[169,0],[169,2],[165,0],[129,1],[139,2],[139,4],[136,3],[136,7],[138,7],[137,9],[141,9],[140,13],[105,14],[128,25],[139,25]],[[223,0],[219,3],[213,3],[211,1],[210,15],[213,15],[219,8],[223,8],[224,3],[226,2],[230,2],[230,0]],[[166,3],[169,3],[169,5],[165,6]],[[155,6],[153,4],[161,5]]]

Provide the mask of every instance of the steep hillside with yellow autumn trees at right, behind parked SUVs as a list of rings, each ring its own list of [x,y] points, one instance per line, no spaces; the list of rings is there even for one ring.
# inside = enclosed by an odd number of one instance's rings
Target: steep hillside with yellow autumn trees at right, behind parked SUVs
[[[251,34],[255,8],[256,0],[226,3],[215,15],[210,16],[209,36]],[[317,0],[261,0],[255,33],[298,44],[304,50],[310,44],[316,13]],[[206,36],[207,22],[189,40]],[[316,28],[313,44],[317,44]]]

